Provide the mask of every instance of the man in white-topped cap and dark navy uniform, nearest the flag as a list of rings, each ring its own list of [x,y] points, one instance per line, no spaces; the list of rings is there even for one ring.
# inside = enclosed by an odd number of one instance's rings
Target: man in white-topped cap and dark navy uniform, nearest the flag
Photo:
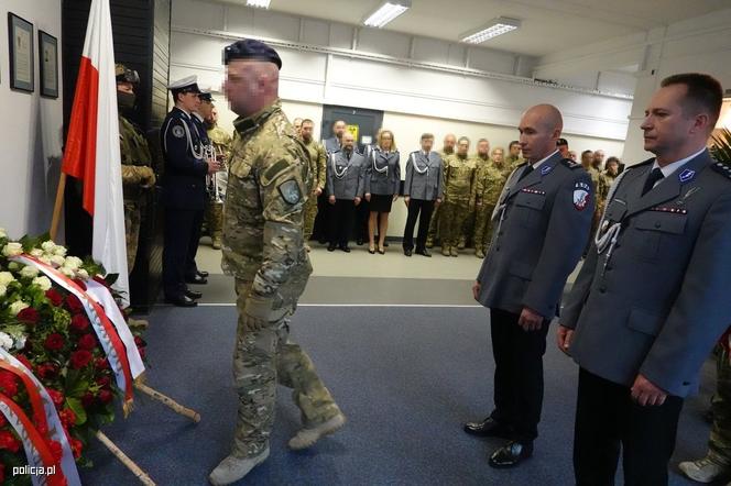
[[[216,173],[219,164],[206,159],[206,147],[193,121],[194,111],[200,104],[196,77],[183,78],[168,89],[175,107],[165,117],[160,131],[165,159],[163,287],[168,302],[194,307],[200,292],[189,290],[186,283],[206,283],[197,272],[195,254],[206,202],[206,175]]]

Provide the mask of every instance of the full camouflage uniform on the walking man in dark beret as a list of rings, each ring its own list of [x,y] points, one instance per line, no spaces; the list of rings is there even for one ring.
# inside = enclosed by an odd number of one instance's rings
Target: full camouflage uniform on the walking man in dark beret
[[[294,389],[306,426],[340,410],[307,354],[288,341],[288,317],[312,273],[302,232],[312,187],[306,148],[279,100],[233,124],[239,136],[229,167],[221,266],[236,277],[238,294],[233,454],[252,457],[269,446],[277,383]],[[246,327],[251,317],[265,322],[262,329]]]

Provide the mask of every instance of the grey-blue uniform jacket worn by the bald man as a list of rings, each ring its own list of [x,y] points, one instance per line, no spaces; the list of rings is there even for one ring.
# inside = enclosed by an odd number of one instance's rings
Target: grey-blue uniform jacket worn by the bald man
[[[589,238],[591,177],[558,153],[519,181],[525,167],[509,177],[495,208],[478,301],[513,313],[527,307],[552,319]]]

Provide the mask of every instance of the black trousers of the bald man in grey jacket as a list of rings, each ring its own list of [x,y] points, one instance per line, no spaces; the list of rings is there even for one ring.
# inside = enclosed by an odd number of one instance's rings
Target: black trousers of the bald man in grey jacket
[[[519,314],[490,310],[492,352],[495,360],[494,401],[491,417],[511,427],[513,439],[532,442],[538,437],[543,408],[543,355],[550,321],[537,331],[524,331]]]

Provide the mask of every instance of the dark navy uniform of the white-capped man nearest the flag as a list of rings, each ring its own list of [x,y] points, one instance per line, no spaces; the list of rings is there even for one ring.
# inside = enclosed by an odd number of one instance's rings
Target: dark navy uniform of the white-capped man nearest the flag
[[[163,287],[168,298],[182,296],[185,277],[196,272],[194,256],[206,200],[208,164],[201,156],[200,133],[190,117],[173,108],[160,131],[165,159]]]

